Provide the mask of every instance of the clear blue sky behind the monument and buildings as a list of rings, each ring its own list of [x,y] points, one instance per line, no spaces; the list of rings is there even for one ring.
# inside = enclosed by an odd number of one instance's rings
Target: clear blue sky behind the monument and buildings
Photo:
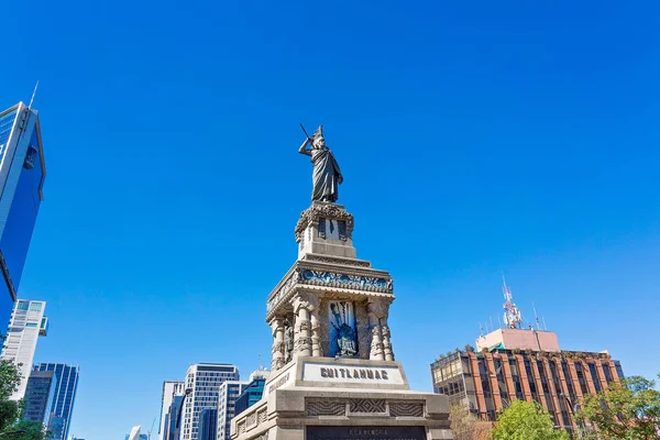
[[[396,279],[415,388],[496,322],[502,271],[562,348],[660,371],[657,2],[455,3],[2,6],[0,106],[41,80],[48,170],[20,294],[48,302],[35,361],[80,365],[74,435],[148,430],[190,363],[267,364],[299,122]]]

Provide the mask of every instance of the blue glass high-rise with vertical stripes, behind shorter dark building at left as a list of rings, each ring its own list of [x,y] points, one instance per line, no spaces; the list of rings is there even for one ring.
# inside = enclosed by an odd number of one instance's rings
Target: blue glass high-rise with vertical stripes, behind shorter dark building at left
[[[35,365],[34,370],[52,371],[55,373],[57,388],[55,389],[55,398],[51,406],[51,421],[48,424],[51,437],[48,439],[66,440],[72,426],[80,367],[66,364],[41,363]]]

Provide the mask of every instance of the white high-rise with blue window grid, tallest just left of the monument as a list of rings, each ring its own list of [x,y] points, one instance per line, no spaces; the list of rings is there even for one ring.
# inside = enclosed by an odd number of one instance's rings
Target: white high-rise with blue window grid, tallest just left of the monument
[[[239,369],[230,364],[195,364],[188,367],[186,388],[191,392],[184,403],[182,440],[198,439],[201,410],[218,408],[220,385],[239,378]]]

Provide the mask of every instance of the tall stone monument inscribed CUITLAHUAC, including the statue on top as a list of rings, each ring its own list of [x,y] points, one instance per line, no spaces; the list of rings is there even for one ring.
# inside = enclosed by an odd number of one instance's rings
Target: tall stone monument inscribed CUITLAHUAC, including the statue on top
[[[314,164],[312,201],[296,224],[298,258],[266,302],[272,373],[262,399],[231,421],[231,439],[452,439],[447,397],[410,391],[395,361],[392,276],[356,256],[321,128],[299,152]]]

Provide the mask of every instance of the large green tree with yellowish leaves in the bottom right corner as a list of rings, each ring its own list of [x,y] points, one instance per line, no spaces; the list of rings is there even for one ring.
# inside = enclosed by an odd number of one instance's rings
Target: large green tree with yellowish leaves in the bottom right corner
[[[602,440],[660,439],[660,392],[656,382],[630,376],[613,382],[598,394],[584,396],[576,413]]]

